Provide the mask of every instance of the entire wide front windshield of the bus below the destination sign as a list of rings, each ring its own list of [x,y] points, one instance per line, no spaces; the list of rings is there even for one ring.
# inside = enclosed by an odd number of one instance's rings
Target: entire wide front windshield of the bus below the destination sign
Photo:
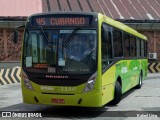
[[[46,72],[57,74],[89,74],[95,72],[97,66],[96,30],[80,29],[74,34],[73,31],[74,29],[27,29],[23,67],[46,70]]]

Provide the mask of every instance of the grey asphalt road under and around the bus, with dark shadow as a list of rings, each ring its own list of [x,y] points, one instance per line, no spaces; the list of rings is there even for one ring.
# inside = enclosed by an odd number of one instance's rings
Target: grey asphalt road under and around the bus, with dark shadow
[[[158,120],[160,117],[160,77],[150,76],[141,89],[125,93],[116,106],[101,108],[55,107],[22,103],[20,84],[0,86],[0,111],[39,112],[40,119],[104,119],[104,120]],[[2,116],[2,115],[1,115]],[[12,119],[12,118],[0,118]],[[24,118],[15,118],[21,120]],[[33,119],[33,118],[28,118]]]

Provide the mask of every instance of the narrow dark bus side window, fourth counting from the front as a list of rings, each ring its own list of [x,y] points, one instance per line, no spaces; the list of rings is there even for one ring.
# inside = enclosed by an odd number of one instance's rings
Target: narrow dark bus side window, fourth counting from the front
[[[131,49],[131,57],[136,56],[136,37],[131,36],[130,39],[130,49]]]

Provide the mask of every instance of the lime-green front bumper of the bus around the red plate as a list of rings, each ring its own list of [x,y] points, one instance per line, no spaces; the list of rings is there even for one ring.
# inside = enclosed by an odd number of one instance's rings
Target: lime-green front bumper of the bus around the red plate
[[[101,107],[102,94],[93,90],[82,94],[43,94],[22,87],[23,102],[58,106]],[[53,103],[52,99],[63,99],[64,103]]]

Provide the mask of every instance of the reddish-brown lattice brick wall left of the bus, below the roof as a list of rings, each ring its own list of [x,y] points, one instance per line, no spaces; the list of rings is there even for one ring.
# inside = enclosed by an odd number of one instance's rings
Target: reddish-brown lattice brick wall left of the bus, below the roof
[[[13,29],[0,29],[0,61],[20,61],[23,30],[19,31],[18,43],[13,43]]]

